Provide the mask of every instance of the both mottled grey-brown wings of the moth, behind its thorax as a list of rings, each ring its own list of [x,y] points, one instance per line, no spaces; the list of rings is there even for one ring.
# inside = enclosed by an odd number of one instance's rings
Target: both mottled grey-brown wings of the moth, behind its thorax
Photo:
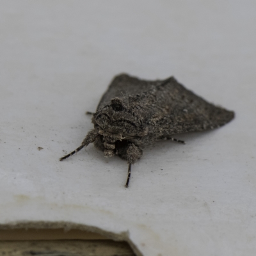
[[[187,90],[174,77],[145,81],[127,74],[116,76],[97,110],[110,104],[115,97],[134,97],[130,101],[131,109],[158,137],[214,129],[234,118],[233,111],[210,104]]]

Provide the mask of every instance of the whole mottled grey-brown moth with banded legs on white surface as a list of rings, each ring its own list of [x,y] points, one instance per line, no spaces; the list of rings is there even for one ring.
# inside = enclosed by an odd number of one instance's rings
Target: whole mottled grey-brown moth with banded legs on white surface
[[[94,128],[80,147],[60,161],[94,143],[105,157],[117,155],[127,161],[125,187],[129,185],[131,166],[141,158],[145,147],[158,140],[184,143],[173,135],[218,128],[234,118],[234,111],[214,106],[174,77],[146,81],[127,74],[114,77],[96,113],[91,114]]]

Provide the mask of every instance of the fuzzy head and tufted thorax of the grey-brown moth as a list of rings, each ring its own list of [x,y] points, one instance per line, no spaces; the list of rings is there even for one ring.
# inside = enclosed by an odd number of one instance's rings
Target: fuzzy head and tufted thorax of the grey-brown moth
[[[99,140],[106,157],[119,154],[129,143],[140,143],[145,136],[141,120],[134,115],[126,99],[111,99],[109,105],[93,115],[92,122],[99,132]]]

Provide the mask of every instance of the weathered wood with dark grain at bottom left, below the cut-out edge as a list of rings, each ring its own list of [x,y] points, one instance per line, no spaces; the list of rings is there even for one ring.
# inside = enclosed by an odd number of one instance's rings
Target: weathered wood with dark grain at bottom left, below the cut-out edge
[[[127,243],[112,240],[0,241],[4,256],[135,256]]]

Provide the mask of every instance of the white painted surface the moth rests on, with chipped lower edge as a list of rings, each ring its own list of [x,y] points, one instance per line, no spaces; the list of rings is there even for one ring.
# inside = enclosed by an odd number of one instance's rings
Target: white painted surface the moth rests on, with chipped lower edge
[[[255,1],[1,1],[0,223],[126,232],[143,255],[256,254]],[[111,78],[174,75],[236,111],[127,164],[80,145]],[[43,147],[43,150],[38,150]],[[163,170],[162,170],[163,169]]]

